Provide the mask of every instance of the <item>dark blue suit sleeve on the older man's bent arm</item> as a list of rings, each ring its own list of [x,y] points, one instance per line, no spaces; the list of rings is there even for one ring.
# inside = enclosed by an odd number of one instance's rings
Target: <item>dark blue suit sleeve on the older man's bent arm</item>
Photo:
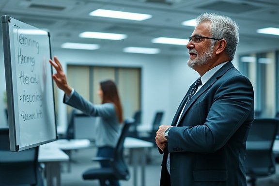
[[[253,100],[253,87],[248,78],[236,75],[217,80],[203,95],[202,100],[199,100],[200,103],[196,103],[200,104],[199,107],[193,106],[188,111],[182,126],[171,127],[168,151],[175,152],[179,147],[180,152],[216,152],[248,120],[248,115],[253,109]],[[205,114],[205,120],[199,117],[202,114]]]

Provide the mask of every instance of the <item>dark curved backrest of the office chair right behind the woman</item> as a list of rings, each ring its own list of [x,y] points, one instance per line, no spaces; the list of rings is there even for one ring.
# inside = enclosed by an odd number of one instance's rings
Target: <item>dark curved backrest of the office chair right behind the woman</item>
[[[134,119],[126,119],[122,127],[121,135],[115,147],[113,155],[112,167],[116,173],[116,177],[121,180],[128,180],[130,178],[129,169],[124,158],[124,140],[128,134],[129,127],[134,124]]]

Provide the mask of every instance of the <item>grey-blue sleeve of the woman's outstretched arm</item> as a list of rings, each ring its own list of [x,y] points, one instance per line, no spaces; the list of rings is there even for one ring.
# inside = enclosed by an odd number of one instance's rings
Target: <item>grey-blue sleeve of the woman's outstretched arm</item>
[[[65,95],[63,103],[81,110],[90,116],[100,116],[103,118],[109,118],[112,114],[116,114],[114,105],[112,103],[105,103],[102,105],[94,105],[90,101],[84,99],[77,91],[74,91],[73,95],[65,102]]]

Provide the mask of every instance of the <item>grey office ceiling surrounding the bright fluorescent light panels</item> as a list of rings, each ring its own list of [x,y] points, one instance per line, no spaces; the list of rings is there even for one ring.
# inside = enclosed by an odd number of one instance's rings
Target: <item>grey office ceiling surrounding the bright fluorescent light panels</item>
[[[96,9],[151,14],[144,21],[93,17]],[[240,27],[238,53],[279,49],[279,35],[256,33],[279,28],[279,0],[1,0],[0,15],[41,29],[51,35],[52,50],[65,42],[99,44],[98,51],[122,52],[124,47],[160,48],[156,55],[187,55],[185,46],[154,44],[155,37],[188,38],[194,27],[181,23],[203,12],[230,16]],[[79,38],[83,31],[124,33],[124,40]],[[68,49],[69,50],[69,49]],[[69,50],[71,51],[71,50]]]

